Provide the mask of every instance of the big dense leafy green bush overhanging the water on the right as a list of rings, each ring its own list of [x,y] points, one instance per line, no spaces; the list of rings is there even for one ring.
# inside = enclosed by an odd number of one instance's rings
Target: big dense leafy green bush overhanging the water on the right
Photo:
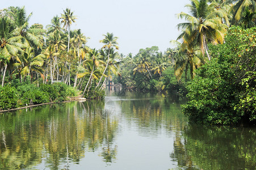
[[[225,44],[211,46],[215,59],[196,71],[183,112],[201,124],[256,120],[256,28],[231,27]]]

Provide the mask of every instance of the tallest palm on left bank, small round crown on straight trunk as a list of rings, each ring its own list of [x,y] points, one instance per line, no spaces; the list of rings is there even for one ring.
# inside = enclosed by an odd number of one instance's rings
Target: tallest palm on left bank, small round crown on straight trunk
[[[61,23],[64,23],[63,28],[68,29],[68,52],[69,52],[69,41],[70,41],[70,26],[72,22],[75,22],[76,16],[73,15],[73,12],[70,12],[69,8],[66,8],[64,14],[61,14]]]

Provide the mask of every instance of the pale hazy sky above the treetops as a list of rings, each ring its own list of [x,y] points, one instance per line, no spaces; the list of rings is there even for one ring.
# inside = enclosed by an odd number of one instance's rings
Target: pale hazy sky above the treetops
[[[177,39],[178,20],[175,14],[186,12],[189,0],[9,0],[1,3],[1,9],[9,6],[25,6],[27,15],[33,12],[30,25],[51,23],[53,16],[60,16],[70,8],[77,16],[71,29],[81,29],[90,37],[87,45],[99,49],[103,34],[114,33],[118,37],[119,52],[135,55],[139,49],[158,46],[162,52],[171,47],[170,40]]]

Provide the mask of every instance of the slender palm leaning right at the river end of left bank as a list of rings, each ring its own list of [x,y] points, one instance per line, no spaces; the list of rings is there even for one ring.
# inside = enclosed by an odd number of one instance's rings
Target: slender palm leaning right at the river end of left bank
[[[113,33],[108,33],[108,32],[107,32],[107,35],[103,35],[103,36],[104,36],[104,39],[103,39],[103,40],[100,40],[100,42],[102,42],[103,44],[105,44],[105,45],[103,45],[102,49],[108,49],[107,63],[106,63],[106,67],[105,67],[105,69],[104,69],[104,71],[103,71],[102,76],[101,76],[100,79],[99,79],[99,82],[98,82],[96,88],[99,87],[99,84],[100,84],[100,82],[101,82],[101,80],[102,80],[102,78],[103,78],[103,75],[105,74],[105,72],[106,72],[106,70],[107,70],[108,63],[109,63],[109,61],[110,61],[110,52],[111,52],[111,49],[114,49],[114,48],[117,49],[117,50],[119,49],[119,47],[117,46],[117,45],[118,45],[118,43],[117,43],[117,37],[114,37]]]

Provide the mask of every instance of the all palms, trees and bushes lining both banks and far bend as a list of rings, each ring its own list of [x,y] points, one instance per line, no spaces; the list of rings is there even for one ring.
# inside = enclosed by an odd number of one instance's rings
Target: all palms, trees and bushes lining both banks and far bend
[[[83,96],[91,99],[103,97],[104,84],[112,80],[132,90],[173,91],[179,95],[188,92],[189,101],[183,111],[191,121],[254,122],[255,4],[254,0],[191,0],[186,5],[189,14],[177,14],[185,22],[177,25],[181,34],[171,41],[175,48],[162,53],[152,46],[140,49],[134,56],[117,52],[117,37],[112,33],[103,35],[102,49],[86,46],[89,37],[81,29],[70,29],[77,18],[68,8],[60,17],[54,16],[47,29],[41,24],[29,27],[31,14],[26,16],[24,7],[3,9],[2,89],[10,86],[10,91],[23,90],[23,94],[26,89],[38,90],[32,99],[22,100],[20,105],[24,105],[38,103],[37,100],[60,100],[51,96],[54,88],[43,86],[55,80],[72,86],[73,91],[81,90]],[[27,87],[15,86],[14,79],[20,84],[28,82]],[[37,99],[36,95],[45,89],[49,96],[39,95],[41,98]],[[10,95],[16,101],[14,94],[1,95]],[[13,107],[11,101],[8,103],[10,106],[5,108]]]

